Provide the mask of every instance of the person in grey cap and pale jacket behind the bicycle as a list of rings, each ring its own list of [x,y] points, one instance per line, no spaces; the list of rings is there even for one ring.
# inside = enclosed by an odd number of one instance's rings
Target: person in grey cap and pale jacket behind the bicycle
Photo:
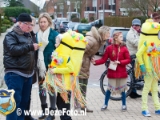
[[[138,42],[139,42],[139,36],[140,36],[140,29],[141,29],[141,20],[139,19],[133,19],[132,20],[132,26],[130,30],[127,33],[126,36],[126,46],[128,48],[129,54],[136,55],[138,50]],[[131,63],[133,66],[135,64],[135,61]],[[135,88],[132,89],[132,92],[129,94],[131,98],[139,98],[141,95],[137,93],[137,90]]]

